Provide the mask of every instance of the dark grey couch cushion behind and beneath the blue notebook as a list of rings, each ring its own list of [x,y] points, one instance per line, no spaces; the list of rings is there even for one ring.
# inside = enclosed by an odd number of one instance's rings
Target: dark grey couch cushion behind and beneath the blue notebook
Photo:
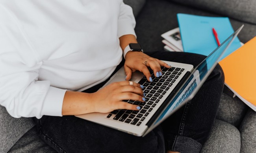
[[[141,13],[136,18],[135,32],[137,40],[146,51],[163,50],[163,38],[161,34],[178,27],[177,13],[187,13],[193,15],[219,16],[207,11],[202,11],[182,4],[177,4],[171,0],[147,0]],[[230,19],[234,29],[242,24],[245,27],[238,37],[241,42],[247,42],[256,34],[256,25],[239,22]]]

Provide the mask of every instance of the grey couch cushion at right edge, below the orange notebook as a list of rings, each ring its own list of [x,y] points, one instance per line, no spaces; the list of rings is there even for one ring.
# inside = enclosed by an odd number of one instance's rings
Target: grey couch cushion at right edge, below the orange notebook
[[[241,153],[256,153],[256,112],[249,109],[240,126]]]

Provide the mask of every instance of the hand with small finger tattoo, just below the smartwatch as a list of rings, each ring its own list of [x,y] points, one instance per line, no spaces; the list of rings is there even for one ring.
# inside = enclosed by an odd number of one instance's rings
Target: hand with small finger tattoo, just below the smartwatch
[[[146,77],[147,80],[152,82],[151,74],[148,70],[150,67],[154,71],[156,77],[162,76],[162,71],[160,66],[170,68],[169,64],[152,58],[141,51],[129,51],[125,55],[124,71],[126,73],[126,80],[130,80],[132,77],[132,72],[136,70],[141,71]]]

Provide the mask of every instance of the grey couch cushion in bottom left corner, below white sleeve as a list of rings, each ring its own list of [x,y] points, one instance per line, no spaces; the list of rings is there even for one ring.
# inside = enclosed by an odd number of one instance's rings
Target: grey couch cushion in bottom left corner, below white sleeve
[[[32,118],[13,118],[0,106],[0,153],[6,153],[35,123]]]

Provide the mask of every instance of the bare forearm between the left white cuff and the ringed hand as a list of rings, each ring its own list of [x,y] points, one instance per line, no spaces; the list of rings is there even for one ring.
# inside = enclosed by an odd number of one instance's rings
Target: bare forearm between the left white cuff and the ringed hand
[[[62,115],[80,115],[94,112],[90,93],[67,91],[62,105]]]

